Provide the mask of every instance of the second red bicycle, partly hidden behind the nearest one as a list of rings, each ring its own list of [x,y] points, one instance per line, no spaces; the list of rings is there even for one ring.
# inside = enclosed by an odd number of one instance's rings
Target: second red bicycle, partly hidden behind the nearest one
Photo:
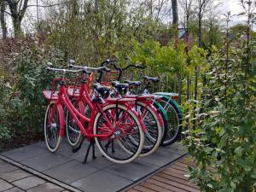
[[[107,62],[107,61],[104,61]],[[73,61],[74,63],[74,61]],[[80,68],[83,69],[84,66],[75,66],[75,65],[70,65],[70,67],[74,68]],[[93,67],[86,67],[88,69],[95,69]],[[102,70],[105,72],[110,72],[110,70]],[[98,83],[101,83],[101,78],[102,78],[102,73],[99,79],[97,79]],[[84,78],[85,79],[85,78]],[[87,77],[87,82],[90,84],[90,79],[91,79],[91,74],[89,77]],[[78,82],[76,79],[75,82]],[[115,94],[111,94],[112,97],[116,98],[121,98],[121,92],[123,90],[128,89],[129,84],[119,84],[119,82],[114,81],[112,82],[113,87],[116,88]],[[109,84],[111,84],[109,82]],[[109,86],[102,86],[100,84],[97,84],[98,87],[101,87],[104,89],[104,91],[100,91],[99,94],[102,95],[102,97],[107,98],[110,95],[110,92],[113,92],[115,90],[114,88],[110,88]],[[71,86],[70,89],[68,89],[68,93],[70,96],[73,97],[74,103],[77,103],[79,101],[83,101],[82,95],[86,95],[87,98],[90,100],[89,93],[82,87],[82,84],[80,87],[78,86],[77,83],[75,83],[73,86]],[[163,119],[161,118],[160,113],[157,111],[156,108],[152,105],[153,103],[153,97],[154,96],[126,96],[129,97],[130,99],[136,99],[136,105],[135,105],[135,110],[139,114],[140,119],[143,121],[143,125],[146,127],[145,131],[145,141],[144,141],[144,146],[143,146],[143,151],[140,154],[141,157],[143,156],[148,156],[149,154],[154,153],[154,151],[160,146],[160,142],[162,139],[162,133],[163,133],[163,126],[164,122]],[[90,111],[91,104],[90,101],[84,100],[84,106],[86,108],[85,112]],[[83,106],[79,106],[76,104],[76,106],[79,107],[79,110],[83,110]],[[78,127],[75,124],[72,124],[70,120],[68,120],[68,113],[67,113],[67,139],[69,143],[73,146],[77,145],[80,140],[81,140],[81,134],[79,132]],[[134,143],[136,143],[136,140],[133,140]]]

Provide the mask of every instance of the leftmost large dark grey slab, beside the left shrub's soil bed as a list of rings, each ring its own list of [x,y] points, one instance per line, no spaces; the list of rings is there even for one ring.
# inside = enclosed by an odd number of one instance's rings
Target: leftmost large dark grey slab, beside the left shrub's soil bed
[[[13,150],[5,151],[2,154],[12,160],[21,161],[46,153],[48,153],[46,149],[36,148],[32,144],[26,147],[15,148]]]

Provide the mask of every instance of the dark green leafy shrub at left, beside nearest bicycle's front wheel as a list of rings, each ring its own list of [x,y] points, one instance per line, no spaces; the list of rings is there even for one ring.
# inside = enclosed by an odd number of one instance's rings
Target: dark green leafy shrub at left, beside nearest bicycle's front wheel
[[[18,53],[13,62],[15,76],[2,77],[0,87],[0,139],[15,133],[42,132],[47,102],[42,91],[50,85],[53,74],[46,62],[63,63],[63,55],[37,42]],[[53,58],[53,59],[52,59]],[[57,63],[57,65],[56,65]]]

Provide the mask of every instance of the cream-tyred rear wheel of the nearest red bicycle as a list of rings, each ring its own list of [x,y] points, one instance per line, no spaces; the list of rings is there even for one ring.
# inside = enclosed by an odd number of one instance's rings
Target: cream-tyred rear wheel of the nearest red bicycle
[[[101,153],[114,163],[124,164],[136,160],[144,143],[144,133],[136,113],[123,105],[115,104],[102,108],[102,111],[103,113],[96,113],[94,134],[111,133],[111,136],[104,139],[95,137]],[[113,128],[107,122],[110,122]],[[137,144],[132,143],[132,138],[136,138]]]

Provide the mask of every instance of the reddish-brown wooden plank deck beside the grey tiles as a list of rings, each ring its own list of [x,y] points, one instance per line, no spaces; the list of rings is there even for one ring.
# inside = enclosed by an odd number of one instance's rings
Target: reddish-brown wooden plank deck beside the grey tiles
[[[200,192],[199,187],[195,183],[189,183],[188,177],[185,177],[188,166],[195,164],[186,158],[177,160],[128,192]]]

